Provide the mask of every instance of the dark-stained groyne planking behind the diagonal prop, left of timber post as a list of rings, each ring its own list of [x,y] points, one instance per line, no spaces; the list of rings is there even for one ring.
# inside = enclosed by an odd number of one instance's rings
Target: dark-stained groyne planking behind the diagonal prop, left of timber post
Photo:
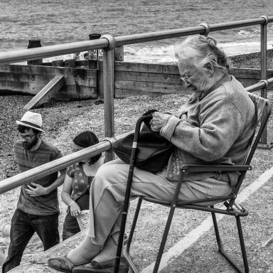
[[[47,65],[1,65],[0,95],[37,95],[57,75],[65,77],[65,85],[55,92],[57,100],[97,97],[96,70]]]

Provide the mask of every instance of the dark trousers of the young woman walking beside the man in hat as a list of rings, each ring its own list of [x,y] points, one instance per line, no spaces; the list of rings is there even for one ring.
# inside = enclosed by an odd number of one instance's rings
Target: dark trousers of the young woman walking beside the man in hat
[[[89,209],[89,198],[89,191],[87,191],[87,193],[75,200],[77,205],[79,205],[80,210]],[[65,221],[63,222],[63,241],[75,235],[77,232],[80,232],[80,226],[77,223],[77,218],[71,215],[70,208],[68,207],[68,212],[65,216]]]

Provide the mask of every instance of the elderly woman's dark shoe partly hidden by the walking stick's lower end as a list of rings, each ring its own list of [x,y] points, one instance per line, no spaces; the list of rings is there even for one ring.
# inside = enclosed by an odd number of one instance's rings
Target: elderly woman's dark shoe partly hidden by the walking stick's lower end
[[[113,273],[114,272],[114,259],[109,259],[105,262],[92,261],[89,264],[74,267],[73,273]],[[121,258],[119,262],[119,273],[127,273],[129,271],[129,266],[125,258]]]

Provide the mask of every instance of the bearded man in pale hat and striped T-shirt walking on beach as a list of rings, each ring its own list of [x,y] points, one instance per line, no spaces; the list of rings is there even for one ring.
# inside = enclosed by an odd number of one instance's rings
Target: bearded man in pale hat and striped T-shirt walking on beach
[[[19,170],[28,171],[62,157],[54,146],[41,139],[42,117],[35,112],[26,112],[18,124],[18,140],[14,144],[14,155]],[[58,186],[63,184],[65,170],[51,173],[21,187],[17,208],[11,220],[11,242],[2,273],[17,267],[23,251],[36,232],[43,242],[43,249],[60,242],[58,232]]]

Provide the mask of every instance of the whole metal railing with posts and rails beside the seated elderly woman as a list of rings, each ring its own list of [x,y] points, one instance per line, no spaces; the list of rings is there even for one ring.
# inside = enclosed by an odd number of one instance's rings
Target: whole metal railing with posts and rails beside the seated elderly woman
[[[57,55],[65,55],[85,50],[100,49],[103,50],[103,92],[105,99],[105,137],[109,140],[102,141],[92,147],[77,151],[74,154],[64,156],[61,159],[49,162],[43,166],[33,168],[24,173],[7,178],[0,183],[0,194],[10,191],[26,182],[35,181],[38,178],[58,171],[70,164],[89,156],[94,156],[102,151],[107,151],[106,161],[112,160],[114,154],[111,151],[111,143],[114,138],[114,48],[122,45],[134,43],[144,43],[148,41],[157,41],[193,34],[202,34],[207,36],[213,31],[221,31],[230,28],[242,28],[245,26],[261,26],[261,81],[255,85],[247,87],[247,91],[253,92],[261,90],[262,97],[267,97],[267,86],[273,82],[273,78],[267,80],[267,23],[273,22],[273,16],[261,16],[242,21],[233,21],[227,23],[216,23],[208,25],[208,23],[200,23],[199,26],[189,28],[177,28],[167,31],[156,31],[150,33],[140,33],[127,36],[111,36],[105,35],[97,40],[81,41],[76,43],[65,43],[62,45],[49,45],[41,48],[29,48],[23,50],[14,50],[6,53],[0,53],[0,65],[8,63],[18,63],[25,60],[36,60],[38,58],[48,58]],[[123,136],[123,135],[122,135]],[[120,137],[116,139],[119,139]],[[267,133],[262,136],[262,144],[267,143]]]

